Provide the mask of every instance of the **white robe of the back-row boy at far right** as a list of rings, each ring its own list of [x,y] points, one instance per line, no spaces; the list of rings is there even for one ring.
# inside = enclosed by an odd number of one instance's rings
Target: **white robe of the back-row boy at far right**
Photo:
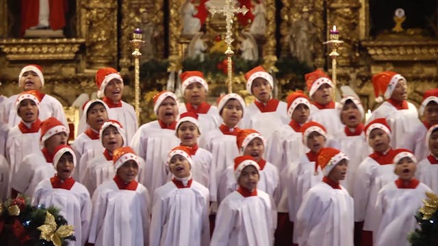
[[[412,136],[417,127],[422,122],[418,119],[418,111],[415,105],[407,102],[409,109],[397,110],[391,103],[385,101],[376,110],[372,112],[368,122],[376,118],[385,118],[389,127],[391,127],[391,142],[392,148],[409,148],[404,146],[404,139]],[[367,124],[368,124],[367,122]],[[415,141],[411,139],[409,141]]]

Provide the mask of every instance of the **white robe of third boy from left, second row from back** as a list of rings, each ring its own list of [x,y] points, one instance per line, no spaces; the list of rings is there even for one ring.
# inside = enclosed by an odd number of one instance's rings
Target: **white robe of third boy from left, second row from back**
[[[168,180],[166,171],[167,155],[172,148],[179,146],[180,140],[175,130],[163,129],[157,120],[143,124],[138,128],[131,143],[132,149],[146,162],[146,188],[153,193]]]

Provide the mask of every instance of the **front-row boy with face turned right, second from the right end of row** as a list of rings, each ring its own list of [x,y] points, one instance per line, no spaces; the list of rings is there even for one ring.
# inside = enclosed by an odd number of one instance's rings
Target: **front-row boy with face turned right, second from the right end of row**
[[[296,215],[298,245],[353,245],[353,199],[339,184],[347,175],[348,161],[348,156],[335,148],[320,151],[317,162],[324,177],[306,193]]]

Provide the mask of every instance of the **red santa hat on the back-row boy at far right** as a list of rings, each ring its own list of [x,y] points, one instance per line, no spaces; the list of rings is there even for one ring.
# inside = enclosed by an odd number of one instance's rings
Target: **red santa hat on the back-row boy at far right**
[[[385,71],[374,74],[371,80],[372,87],[374,87],[374,96],[376,96],[376,102],[383,102],[381,94],[383,94],[386,99],[391,98],[392,92],[394,92],[394,88],[400,79],[406,82],[406,79],[396,72]]]

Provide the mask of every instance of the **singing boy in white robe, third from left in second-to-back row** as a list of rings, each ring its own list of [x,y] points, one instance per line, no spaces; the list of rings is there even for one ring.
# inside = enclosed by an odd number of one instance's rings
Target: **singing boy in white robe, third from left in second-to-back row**
[[[158,120],[143,124],[134,135],[131,146],[148,167],[145,174],[149,178],[146,188],[153,191],[167,181],[166,156],[172,148],[179,145],[175,136],[177,126],[178,98],[172,92],[159,92],[153,97],[153,111]]]

